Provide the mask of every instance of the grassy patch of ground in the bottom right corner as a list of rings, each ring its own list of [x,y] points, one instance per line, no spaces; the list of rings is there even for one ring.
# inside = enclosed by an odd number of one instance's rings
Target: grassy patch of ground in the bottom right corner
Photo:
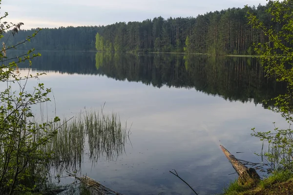
[[[224,195],[292,195],[293,173],[291,171],[274,172],[258,184],[241,186],[237,180],[224,189]]]

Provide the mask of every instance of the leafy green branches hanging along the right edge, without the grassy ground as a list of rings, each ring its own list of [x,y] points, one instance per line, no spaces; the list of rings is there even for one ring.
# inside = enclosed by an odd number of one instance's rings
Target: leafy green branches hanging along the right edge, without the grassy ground
[[[286,83],[287,93],[270,99],[274,105],[270,109],[280,113],[289,123],[288,129],[274,128],[273,131],[256,132],[259,137],[269,144],[267,152],[261,154],[272,162],[272,169],[293,168],[293,4],[291,0],[269,1],[267,14],[272,25],[267,26],[248,9],[249,23],[253,28],[261,30],[265,36],[264,42],[254,44],[254,51],[258,54],[268,77],[275,77],[277,81]],[[275,26],[274,28],[272,26]]]

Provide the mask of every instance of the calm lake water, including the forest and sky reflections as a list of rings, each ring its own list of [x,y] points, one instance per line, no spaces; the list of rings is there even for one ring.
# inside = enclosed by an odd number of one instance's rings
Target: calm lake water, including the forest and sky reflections
[[[191,195],[169,173],[173,169],[199,195],[222,193],[237,174],[219,145],[237,158],[260,162],[254,153],[262,142],[251,137],[251,128],[285,125],[262,100],[284,93],[286,86],[266,78],[253,58],[41,53],[31,72],[45,72],[39,79],[52,88],[55,100],[42,105],[48,117],[56,111],[69,118],[105,103],[104,113],[117,113],[131,126],[125,152],[94,162],[84,154],[80,167],[82,174],[125,195]],[[20,66],[22,76],[25,67]]]

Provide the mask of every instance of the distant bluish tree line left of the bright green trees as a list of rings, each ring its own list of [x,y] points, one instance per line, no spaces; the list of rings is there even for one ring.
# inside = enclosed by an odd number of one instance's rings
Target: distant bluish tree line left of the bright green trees
[[[30,39],[30,42],[19,45],[19,50],[28,50],[32,47],[36,50],[70,50],[90,51],[95,50],[95,36],[99,32],[98,26],[43,28],[38,36]],[[37,29],[20,30],[12,36],[10,32],[4,34],[6,45],[16,45]]]

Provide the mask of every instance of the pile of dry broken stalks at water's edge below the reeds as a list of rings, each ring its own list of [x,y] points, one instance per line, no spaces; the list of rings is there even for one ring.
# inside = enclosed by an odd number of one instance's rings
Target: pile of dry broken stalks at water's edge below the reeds
[[[75,176],[75,178],[77,178],[85,186],[87,186],[92,195],[123,195],[118,192],[115,192],[114,190],[111,190],[110,188],[104,186],[98,181],[95,181],[89,178],[88,176],[83,176],[83,177]]]

